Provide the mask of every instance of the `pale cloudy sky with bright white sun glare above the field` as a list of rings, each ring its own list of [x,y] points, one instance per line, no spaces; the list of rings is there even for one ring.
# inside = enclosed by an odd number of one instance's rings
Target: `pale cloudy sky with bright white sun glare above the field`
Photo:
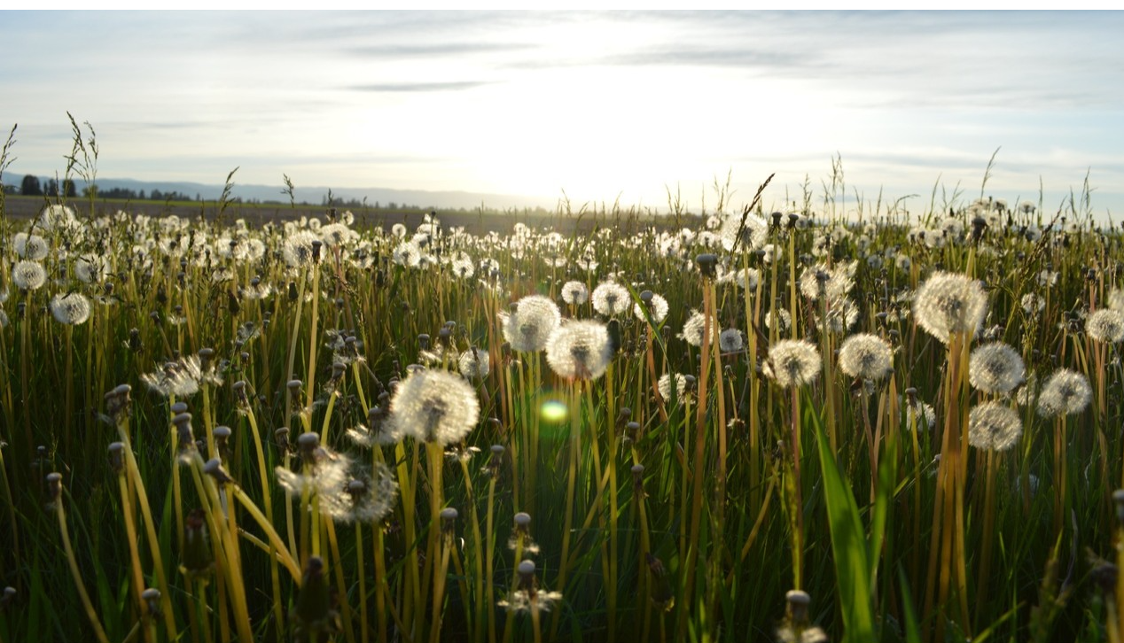
[[[0,10],[3,181],[519,194],[696,211],[982,193],[1124,212],[1124,13]],[[84,126],[83,126],[84,128]],[[89,132],[87,131],[87,135]],[[2,138],[2,137],[0,137]],[[998,153],[996,154],[996,151]],[[986,174],[989,159],[995,162]],[[833,162],[834,159],[834,162]],[[475,205],[477,203],[466,203]]]

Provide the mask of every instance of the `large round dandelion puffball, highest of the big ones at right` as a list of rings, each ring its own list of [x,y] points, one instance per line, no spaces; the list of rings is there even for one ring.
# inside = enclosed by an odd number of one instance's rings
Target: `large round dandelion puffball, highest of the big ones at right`
[[[935,273],[917,290],[914,313],[925,332],[949,343],[951,336],[973,333],[984,324],[987,294],[967,275]]]

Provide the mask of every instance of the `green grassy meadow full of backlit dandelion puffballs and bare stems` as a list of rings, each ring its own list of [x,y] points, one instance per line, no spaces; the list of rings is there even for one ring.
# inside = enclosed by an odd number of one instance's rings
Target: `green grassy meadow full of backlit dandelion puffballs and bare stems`
[[[1120,229],[844,193],[0,210],[0,640],[1122,641]]]

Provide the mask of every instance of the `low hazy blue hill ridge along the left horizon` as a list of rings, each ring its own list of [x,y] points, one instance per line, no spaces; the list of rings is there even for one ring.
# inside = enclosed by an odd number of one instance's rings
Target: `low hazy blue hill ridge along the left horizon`
[[[4,176],[4,182],[7,184],[19,185],[19,181],[22,176],[9,175]],[[49,176],[40,176],[39,181],[43,185],[46,185]],[[235,177],[237,178],[237,177]],[[221,196],[223,185],[212,185],[205,183],[191,183],[187,181],[135,181],[132,178],[99,178],[98,187],[101,190],[111,189],[123,189],[132,190],[134,192],[140,192],[142,190],[145,194],[152,194],[153,190],[158,190],[162,193],[167,192],[179,192],[189,198],[194,199],[198,195],[200,199],[214,201]],[[85,189],[85,182],[79,178],[74,180],[75,187],[79,193]],[[283,187],[281,185],[244,185],[241,183],[235,183],[232,191],[232,196],[234,199],[242,199],[247,202],[278,202],[285,203],[289,202],[289,195],[282,193]],[[320,204],[325,202],[327,198],[329,187],[326,186],[311,186],[311,187],[296,187],[293,191],[293,196],[298,203],[305,202],[310,204]],[[374,205],[379,203],[386,206],[388,203],[395,203],[398,205],[416,205],[418,208],[434,208],[434,209],[473,209],[479,208],[481,204],[489,210],[508,210],[508,209],[534,209],[534,208],[545,208],[547,210],[553,210],[556,205],[546,199],[534,198],[534,196],[523,196],[517,194],[486,194],[480,192],[430,192],[426,190],[393,190],[389,187],[330,187],[332,196],[335,201],[363,201],[366,200],[369,205]]]

